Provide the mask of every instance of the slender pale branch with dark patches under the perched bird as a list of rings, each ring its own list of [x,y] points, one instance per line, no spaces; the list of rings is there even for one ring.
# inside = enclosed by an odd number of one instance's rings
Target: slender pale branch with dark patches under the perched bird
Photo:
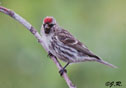
[[[23,24],[38,40],[38,42],[43,46],[43,48],[49,52],[49,50],[47,49],[47,47],[45,46],[40,34],[37,32],[37,30],[28,22],[26,21],[24,18],[22,18],[21,16],[19,16],[17,13],[15,13],[12,10],[9,10],[5,7],[0,6],[0,12],[3,12],[7,15],[9,15],[10,17],[14,18],[15,20],[17,20],[18,22],[20,22],[21,24]],[[54,63],[56,64],[57,68],[59,70],[62,69],[61,64],[59,63],[59,61],[55,58],[55,57],[51,57],[51,59],[54,61]],[[69,88],[76,88],[74,86],[74,84],[71,82],[71,80],[69,79],[69,77],[67,76],[66,73],[63,73],[62,77],[64,78],[64,80],[66,81],[67,85],[69,86]]]

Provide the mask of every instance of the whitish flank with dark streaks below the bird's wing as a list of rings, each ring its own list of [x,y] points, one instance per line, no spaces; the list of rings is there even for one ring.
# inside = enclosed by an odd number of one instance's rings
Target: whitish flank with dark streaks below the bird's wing
[[[77,51],[71,49],[68,46],[57,44],[56,42],[52,42],[49,45],[50,52],[64,62],[78,62],[80,60],[80,56],[77,55]]]

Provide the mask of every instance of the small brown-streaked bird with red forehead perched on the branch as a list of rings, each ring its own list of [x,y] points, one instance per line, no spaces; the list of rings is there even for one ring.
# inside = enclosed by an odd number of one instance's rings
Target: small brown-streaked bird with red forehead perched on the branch
[[[48,48],[49,56],[54,56],[67,64],[59,71],[60,75],[66,72],[70,63],[96,61],[107,66],[116,66],[102,60],[93,54],[83,43],[77,40],[67,30],[61,28],[53,17],[46,17],[41,28],[42,39]]]

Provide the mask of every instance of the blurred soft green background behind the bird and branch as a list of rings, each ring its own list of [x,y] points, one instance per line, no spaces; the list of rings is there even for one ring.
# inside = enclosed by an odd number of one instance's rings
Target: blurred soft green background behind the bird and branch
[[[72,64],[68,75],[78,88],[126,88],[126,0],[0,0],[40,31],[53,16],[90,50],[118,66],[96,62]],[[65,63],[61,62],[63,65]],[[0,88],[68,88],[56,65],[20,23],[0,13]]]

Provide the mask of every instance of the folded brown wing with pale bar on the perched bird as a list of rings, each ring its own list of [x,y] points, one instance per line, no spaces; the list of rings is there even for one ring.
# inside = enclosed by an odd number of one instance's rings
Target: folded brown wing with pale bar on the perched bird
[[[86,56],[100,59],[98,56],[94,55],[91,51],[89,51],[84,44],[82,44],[79,40],[74,38],[68,31],[62,29],[56,35],[59,41],[61,41],[63,44],[76,49],[78,52],[81,52]]]

